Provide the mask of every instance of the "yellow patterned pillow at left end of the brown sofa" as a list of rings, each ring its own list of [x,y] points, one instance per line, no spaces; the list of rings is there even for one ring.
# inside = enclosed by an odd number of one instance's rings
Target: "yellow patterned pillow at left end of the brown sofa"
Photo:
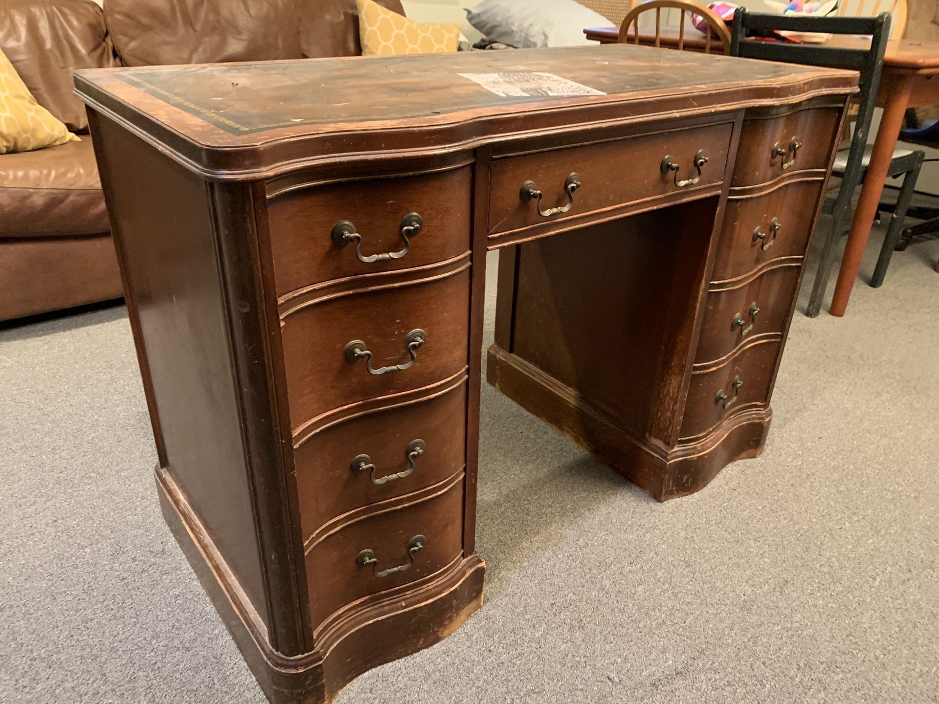
[[[39,105],[7,54],[0,51],[0,154],[80,141]]]

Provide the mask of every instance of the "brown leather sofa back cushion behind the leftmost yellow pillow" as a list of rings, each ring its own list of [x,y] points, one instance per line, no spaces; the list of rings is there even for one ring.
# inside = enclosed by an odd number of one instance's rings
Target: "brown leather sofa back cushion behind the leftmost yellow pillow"
[[[88,126],[85,105],[71,94],[71,72],[117,65],[92,0],[0,0],[0,49],[39,105],[71,131]]]

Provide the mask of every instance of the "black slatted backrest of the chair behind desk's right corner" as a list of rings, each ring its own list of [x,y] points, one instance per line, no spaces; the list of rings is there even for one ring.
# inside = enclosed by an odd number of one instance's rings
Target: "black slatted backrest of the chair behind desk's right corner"
[[[795,44],[784,41],[763,40],[774,31],[821,32],[833,35],[870,36],[870,48],[850,49],[824,44]],[[756,38],[754,38],[756,36]],[[793,17],[747,12],[738,8],[733,14],[731,56],[757,58],[767,61],[785,61],[790,64],[824,66],[832,69],[854,69],[861,73],[857,122],[854,138],[844,170],[839,204],[847,208],[848,199],[860,178],[864,146],[870,131],[870,120],[877,99],[881,71],[884,69],[886,42],[890,38],[890,14],[882,12],[877,17]],[[848,192],[844,192],[848,191]]]

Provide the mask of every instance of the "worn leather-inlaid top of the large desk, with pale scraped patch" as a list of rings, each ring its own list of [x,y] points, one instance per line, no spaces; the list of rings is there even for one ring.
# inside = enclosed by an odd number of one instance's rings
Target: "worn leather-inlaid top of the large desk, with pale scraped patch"
[[[551,78],[547,89],[500,95],[465,75],[506,73],[553,74],[590,95],[549,95]],[[85,102],[203,176],[256,177],[273,164],[350,152],[456,149],[493,134],[843,94],[856,77],[610,45],[87,69],[76,72],[75,84]]]

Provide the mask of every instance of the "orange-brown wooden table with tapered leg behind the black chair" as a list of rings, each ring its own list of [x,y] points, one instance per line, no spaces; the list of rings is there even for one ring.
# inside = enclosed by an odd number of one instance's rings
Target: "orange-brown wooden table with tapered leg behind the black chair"
[[[694,33],[701,38],[694,38]],[[617,27],[599,27],[584,29],[587,38],[601,43],[615,43],[619,37]],[[662,28],[661,45],[677,47],[677,28]],[[654,37],[639,35],[639,44],[651,45]],[[827,46],[851,49],[866,48],[870,40],[860,37],[833,37]],[[703,34],[695,29],[685,31],[685,47],[690,51],[703,51]],[[722,47],[712,46],[712,52],[721,53]],[[858,196],[851,234],[845,246],[844,256],[838,273],[838,283],[832,297],[830,312],[832,315],[844,315],[851,298],[851,289],[861,266],[864,249],[870,237],[870,225],[874,222],[881,195],[884,192],[887,170],[897,146],[900,130],[903,127],[903,113],[910,107],[934,105],[939,103],[939,41],[917,39],[893,39],[887,42],[884,57],[884,71],[880,87],[877,90],[877,104],[884,108],[873,153],[870,157],[864,185]],[[936,264],[939,271],[939,263]]]

